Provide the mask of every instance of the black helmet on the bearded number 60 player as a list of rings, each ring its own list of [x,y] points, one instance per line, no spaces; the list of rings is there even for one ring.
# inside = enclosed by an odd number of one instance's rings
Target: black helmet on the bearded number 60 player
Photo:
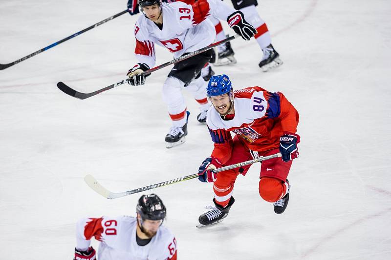
[[[143,195],[137,203],[137,213],[142,220],[163,220],[166,218],[166,207],[156,194]]]

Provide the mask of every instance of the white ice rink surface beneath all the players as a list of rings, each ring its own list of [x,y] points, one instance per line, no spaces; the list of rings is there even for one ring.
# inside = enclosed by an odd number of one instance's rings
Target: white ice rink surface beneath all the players
[[[0,63],[125,9],[125,0],[0,0]],[[390,1],[260,0],[257,9],[284,64],[262,73],[257,43],[237,39],[238,63],[214,69],[235,89],[281,91],[299,111],[290,202],[277,215],[261,200],[259,164],[238,177],[229,216],[203,229],[195,224],[212,203],[211,184],[151,190],[168,208],[179,259],[389,259]],[[186,92],[187,141],[165,148],[171,122],[161,86],[171,67],[145,86],[126,84],[87,100],[57,89],[64,81],[91,92],[125,79],[136,63],[135,20],[124,14],[0,71],[1,260],[72,259],[79,218],[135,214],[141,194],[107,200],[85,184],[86,174],[121,192],[193,174],[210,155],[209,133]],[[172,59],[156,51],[157,64]]]

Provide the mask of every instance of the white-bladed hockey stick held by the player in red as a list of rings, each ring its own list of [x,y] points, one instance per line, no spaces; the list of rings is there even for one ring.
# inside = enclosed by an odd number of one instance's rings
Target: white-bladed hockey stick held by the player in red
[[[213,172],[217,173],[217,172],[221,172],[221,171],[226,171],[226,170],[238,168],[238,167],[241,167],[241,166],[244,166],[244,165],[249,165],[249,164],[253,164],[253,163],[256,163],[256,162],[269,160],[269,159],[273,159],[273,158],[278,158],[278,157],[281,157],[281,153],[277,153],[277,154],[273,154],[273,155],[257,158],[257,159],[254,159],[254,160],[243,161],[243,162],[239,162],[237,164],[224,166],[224,167],[217,168],[217,169],[213,170]],[[173,180],[163,181],[163,182],[160,182],[160,183],[157,183],[157,184],[145,186],[145,187],[142,187],[142,188],[137,188],[137,189],[130,190],[130,191],[120,192],[120,193],[115,193],[115,192],[109,191],[108,189],[103,187],[101,184],[99,184],[99,182],[97,180],[95,180],[95,178],[92,175],[89,175],[89,174],[86,175],[84,180],[86,181],[87,185],[91,189],[93,189],[95,192],[97,192],[98,194],[102,195],[103,197],[105,197],[107,199],[112,200],[112,199],[125,197],[125,196],[128,196],[130,194],[139,193],[139,192],[146,191],[146,190],[151,190],[151,189],[154,189],[154,188],[157,188],[157,187],[163,187],[163,186],[167,186],[167,185],[174,184],[174,183],[181,182],[181,181],[185,181],[185,180],[192,180],[192,179],[195,179],[197,177],[198,177],[198,173],[192,174],[192,175],[188,175],[188,176],[185,176],[185,177],[179,177],[179,178],[176,178],[176,179],[173,179]]]

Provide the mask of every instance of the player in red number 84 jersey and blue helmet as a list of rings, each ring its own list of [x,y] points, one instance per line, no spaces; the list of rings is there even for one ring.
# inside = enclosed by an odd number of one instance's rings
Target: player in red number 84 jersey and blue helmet
[[[235,201],[235,180],[239,174],[245,175],[250,165],[217,174],[210,170],[278,152],[282,158],[261,164],[259,193],[263,200],[274,202],[274,211],[281,214],[289,200],[286,178],[292,160],[299,155],[298,112],[281,92],[271,93],[261,87],[233,91],[226,75],[212,76],[207,95],[213,104],[207,113],[207,125],[215,148],[199,167],[198,179],[213,182],[216,207],[202,214],[197,226],[217,223],[228,215]],[[236,134],[234,138],[230,131]]]

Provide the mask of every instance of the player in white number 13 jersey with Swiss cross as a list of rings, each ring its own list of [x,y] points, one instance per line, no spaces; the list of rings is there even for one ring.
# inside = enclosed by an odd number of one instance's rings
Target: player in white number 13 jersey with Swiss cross
[[[143,16],[140,16],[134,27],[136,38],[135,55],[137,63],[128,72],[130,84],[142,85],[146,76],[142,73],[155,64],[154,44],[161,45],[179,58],[214,42],[216,30],[212,22],[206,19],[214,15],[227,20],[231,28],[244,40],[250,40],[257,32],[248,24],[239,11],[223,4],[220,0],[198,0],[192,5],[177,1],[162,3],[161,0],[139,0]],[[180,61],[168,75],[163,84],[163,100],[168,105],[168,112],[173,127],[166,135],[167,148],[184,142],[187,135],[186,103],[181,89],[185,88],[193,94],[200,105],[201,113],[197,120],[205,122],[209,108],[206,99],[206,82],[200,77],[200,71],[210,60],[212,50],[195,57]],[[147,75],[148,76],[148,75]]]

